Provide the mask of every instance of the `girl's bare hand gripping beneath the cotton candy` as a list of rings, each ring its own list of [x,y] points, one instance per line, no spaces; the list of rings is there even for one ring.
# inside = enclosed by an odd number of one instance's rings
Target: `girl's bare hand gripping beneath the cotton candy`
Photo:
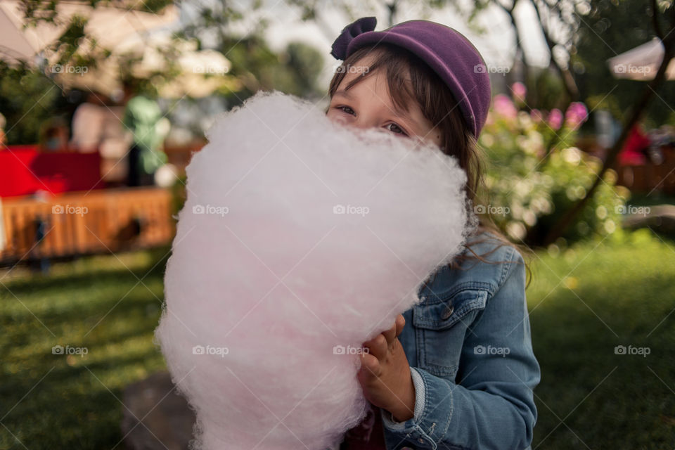
[[[401,342],[406,319],[399,314],[394,326],[364,342],[369,353],[361,354],[359,383],[373,405],[390,411],[394,420],[403,422],[413,417],[415,386]]]

